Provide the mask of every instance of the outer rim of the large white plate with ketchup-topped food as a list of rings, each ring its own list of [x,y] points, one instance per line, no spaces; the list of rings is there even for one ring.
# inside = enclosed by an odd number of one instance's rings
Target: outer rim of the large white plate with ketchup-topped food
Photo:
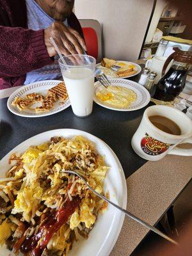
[[[118,159],[118,157],[116,156],[115,152],[112,150],[111,147],[109,147],[109,145],[104,142],[103,140],[101,140],[100,138],[98,138],[97,136],[91,134],[90,132],[85,132],[85,131],[82,131],[82,130],[79,130],[79,129],[54,129],[54,130],[49,130],[49,131],[45,131],[45,132],[41,132],[39,134],[36,134],[35,136],[31,136],[30,138],[28,138],[27,140],[24,140],[22,141],[21,143],[19,143],[19,145],[17,145],[15,148],[13,148],[12,150],[10,150],[10,152],[8,152],[8,154],[6,154],[1,160],[0,160],[0,164],[3,164],[4,161],[6,161],[6,158],[8,156],[10,156],[13,152],[17,152],[17,150],[19,150],[20,147],[22,147],[24,144],[28,143],[28,141],[31,141],[31,140],[34,140],[34,138],[38,138],[39,136],[42,136],[42,134],[49,134],[49,132],[52,133],[52,136],[56,136],[54,134],[60,134],[60,132],[65,132],[66,134],[68,133],[71,133],[73,134],[72,136],[75,136],[73,132],[79,132],[80,134],[79,135],[82,135],[83,136],[86,136],[86,138],[88,138],[88,140],[91,140],[92,141],[92,138],[94,138],[96,141],[99,141],[101,144],[103,144],[105,147],[107,147],[109,149],[109,151],[111,152],[112,156],[114,157],[116,163],[118,164],[119,166],[119,169],[120,169],[120,177],[122,178],[121,181],[122,181],[122,191],[125,191],[125,193],[122,194],[121,198],[122,198],[122,204],[120,205],[121,207],[123,207],[124,209],[127,209],[127,182],[126,182],[126,179],[125,179],[125,173],[124,173],[124,170],[122,168],[122,164],[120,163],[120,160]],[[89,138],[89,136],[91,138]],[[94,141],[95,142],[95,141]],[[29,145],[30,146],[30,145]],[[123,223],[124,223],[124,219],[125,219],[125,214],[123,212],[120,212],[119,214],[119,218],[118,218],[118,225],[116,225],[116,232],[113,236],[113,240],[111,241],[108,241],[108,252],[106,252],[104,254],[104,249],[103,249],[103,246],[100,247],[102,248],[102,250],[98,253],[96,253],[95,255],[97,256],[108,256],[111,251],[113,250],[113,247],[115,246],[115,243],[116,241],[118,240],[118,237],[119,237],[119,234],[120,234],[120,231],[122,230],[122,226],[123,226]],[[110,237],[110,236],[108,236]],[[106,246],[104,246],[104,248],[106,248]]]

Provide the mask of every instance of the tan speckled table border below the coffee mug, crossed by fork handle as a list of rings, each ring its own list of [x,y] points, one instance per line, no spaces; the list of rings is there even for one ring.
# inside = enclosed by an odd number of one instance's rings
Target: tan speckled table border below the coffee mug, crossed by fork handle
[[[156,225],[189,184],[191,177],[191,157],[167,155],[159,161],[148,161],[127,179],[127,211],[152,226]],[[125,217],[110,256],[131,255],[148,231],[140,223]],[[160,247],[157,250],[161,252]]]

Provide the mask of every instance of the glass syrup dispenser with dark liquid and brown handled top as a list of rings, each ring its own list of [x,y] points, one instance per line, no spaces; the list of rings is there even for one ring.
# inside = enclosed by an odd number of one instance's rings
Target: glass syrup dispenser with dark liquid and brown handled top
[[[173,48],[173,50],[175,52],[164,63],[162,76],[170,61],[173,60],[172,66],[157,83],[154,99],[172,101],[182,92],[186,84],[188,70],[192,64],[192,52],[181,51],[179,48]]]

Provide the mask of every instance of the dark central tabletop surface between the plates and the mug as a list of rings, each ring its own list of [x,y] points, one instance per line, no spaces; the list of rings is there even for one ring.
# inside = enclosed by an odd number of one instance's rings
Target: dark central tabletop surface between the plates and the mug
[[[130,77],[138,81],[140,75]],[[41,132],[71,128],[90,132],[105,141],[113,149],[129,177],[146,161],[137,156],[131,147],[131,138],[140,124],[145,108],[136,111],[113,111],[93,104],[92,115],[78,118],[72,108],[40,118],[25,118],[13,115],[7,108],[6,99],[0,99],[0,159],[22,141]],[[150,104],[149,104],[150,105]]]

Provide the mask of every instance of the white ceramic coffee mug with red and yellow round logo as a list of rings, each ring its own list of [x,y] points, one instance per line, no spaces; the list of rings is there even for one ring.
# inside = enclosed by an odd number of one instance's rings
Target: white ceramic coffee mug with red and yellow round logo
[[[180,129],[180,135],[157,128],[150,122],[151,116],[164,116],[171,120],[170,122],[173,121]],[[161,105],[150,106],[145,110],[140,126],[131,141],[134,152],[150,161],[157,161],[166,154],[192,156],[192,148],[177,147],[182,143],[192,143],[192,121],[180,110]]]

